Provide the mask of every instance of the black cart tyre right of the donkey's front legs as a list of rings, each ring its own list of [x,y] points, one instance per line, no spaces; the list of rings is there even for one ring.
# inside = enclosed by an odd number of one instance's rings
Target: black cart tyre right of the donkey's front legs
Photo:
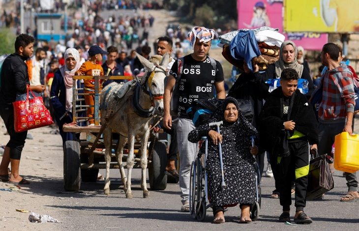
[[[165,168],[167,165],[166,145],[156,142],[152,152],[152,163],[149,165],[149,179],[151,190],[165,190],[167,187],[167,175]]]

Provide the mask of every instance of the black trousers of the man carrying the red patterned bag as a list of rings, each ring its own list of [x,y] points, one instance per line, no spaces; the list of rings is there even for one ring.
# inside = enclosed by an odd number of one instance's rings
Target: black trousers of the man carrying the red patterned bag
[[[0,116],[5,123],[10,141],[6,144],[10,148],[10,158],[20,160],[28,131],[15,132],[14,128],[14,108],[12,104],[0,105]]]

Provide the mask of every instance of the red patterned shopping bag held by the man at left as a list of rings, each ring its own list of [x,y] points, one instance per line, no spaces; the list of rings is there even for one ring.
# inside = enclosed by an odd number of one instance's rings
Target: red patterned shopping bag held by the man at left
[[[15,132],[24,132],[30,129],[48,126],[54,123],[49,110],[44,105],[42,97],[33,97],[29,99],[28,87],[26,100],[13,102],[14,106],[14,127]]]

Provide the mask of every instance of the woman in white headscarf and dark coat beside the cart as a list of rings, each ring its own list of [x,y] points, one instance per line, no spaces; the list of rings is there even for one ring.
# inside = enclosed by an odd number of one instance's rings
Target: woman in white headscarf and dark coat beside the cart
[[[65,123],[72,122],[72,77],[80,68],[80,55],[74,48],[68,48],[64,54],[65,65],[55,73],[53,83],[51,85],[50,99],[54,107],[55,120],[59,126],[62,143],[74,140],[72,133],[62,131]]]

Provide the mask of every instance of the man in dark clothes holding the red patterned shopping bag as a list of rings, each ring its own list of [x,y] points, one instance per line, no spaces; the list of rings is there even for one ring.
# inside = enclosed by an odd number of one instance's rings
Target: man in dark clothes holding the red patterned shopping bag
[[[18,184],[30,183],[19,175],[21,152],[28,132],[15,132],[12,103],[16,101],[16,95],[26,93],[28,87],[38,93],[45,90],[44,85],[30,86],[25,60],[32,56],[33,42],[32,36],[20,34],[15,41],[15,53],[4,60],[0,73],[0,116],[10,135],[10,141],[6,144],[0,164],[0,180]],[[10,176],[7,170],[9,163],[11,164]]]

